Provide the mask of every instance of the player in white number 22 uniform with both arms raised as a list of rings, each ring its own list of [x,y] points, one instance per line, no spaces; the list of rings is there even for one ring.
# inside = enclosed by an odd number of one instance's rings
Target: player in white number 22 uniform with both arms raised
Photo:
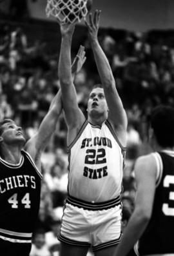
[[[126,150],[126,112],[108,59],[97,39],[100,12],[88,26],[89,39],[102,88],[88,99],[88,119],[77,104],[73,85],[71,44],[74,25],[61,25],[59,78],[68,126],[68,198],[59,233],[61,256],[83,256],[92,246],[95,256],[112,255],[121,239],[122,168]],[[79,55],[84,55],[81,46]]]

